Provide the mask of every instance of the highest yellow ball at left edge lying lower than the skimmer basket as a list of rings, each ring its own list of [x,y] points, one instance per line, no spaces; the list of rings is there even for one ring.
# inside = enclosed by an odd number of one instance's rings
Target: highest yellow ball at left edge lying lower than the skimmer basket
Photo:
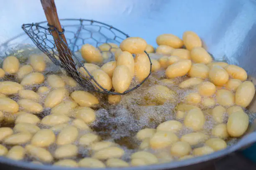
[[[14,100],[8,97],[0,97],[0,111],[16,113],[19,110],[19,105]]]

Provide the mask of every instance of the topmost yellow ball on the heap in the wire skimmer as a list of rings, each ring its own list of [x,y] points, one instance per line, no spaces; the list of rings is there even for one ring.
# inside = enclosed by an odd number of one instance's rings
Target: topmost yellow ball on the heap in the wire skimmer
[[[140,37],[128,37],[120,43],[122,51],[128,51],[132,54],[141,54],[147,48],[147,42]]]

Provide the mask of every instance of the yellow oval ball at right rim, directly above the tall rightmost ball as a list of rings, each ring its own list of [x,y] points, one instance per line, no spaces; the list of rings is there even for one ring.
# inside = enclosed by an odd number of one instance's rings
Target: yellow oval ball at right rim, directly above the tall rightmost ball
[[[237,65],[227,65],[225,70],[228,72],[228,75],[232,78],[245,81],[247,79],[247,72],[243,68]]]

